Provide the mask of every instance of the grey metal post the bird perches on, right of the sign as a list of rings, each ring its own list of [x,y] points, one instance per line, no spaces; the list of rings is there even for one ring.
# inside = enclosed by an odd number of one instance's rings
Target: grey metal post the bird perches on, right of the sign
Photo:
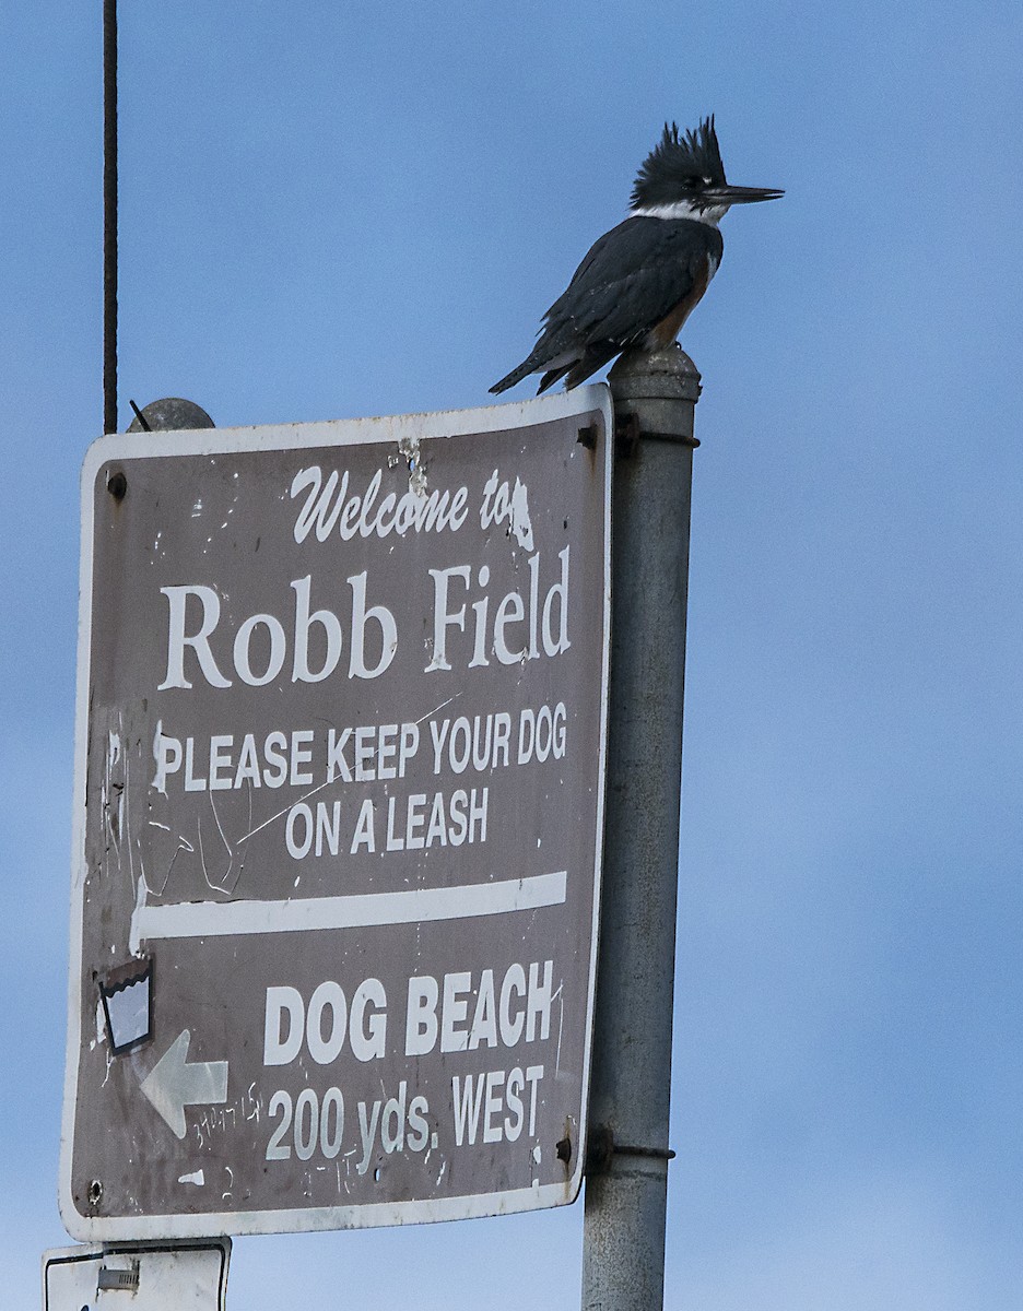
[[[699,374],[672,346],[611,370],[615,597],[584,1311],[664,1304],[682,692]]]

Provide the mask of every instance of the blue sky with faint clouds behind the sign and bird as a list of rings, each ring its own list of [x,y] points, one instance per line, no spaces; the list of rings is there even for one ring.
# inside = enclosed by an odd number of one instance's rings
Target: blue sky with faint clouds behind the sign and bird
[[[0,14],[3,1264],[56,1215],[100,3]],[[121,426],[484,404],[665,118],[696,423],[666,1304],[1023,1298],[1018,4],[122,4]],[[522,388],[526,393],[526,388]],[[236,1304],[571,1306],[581,1206],[239,1242]]]

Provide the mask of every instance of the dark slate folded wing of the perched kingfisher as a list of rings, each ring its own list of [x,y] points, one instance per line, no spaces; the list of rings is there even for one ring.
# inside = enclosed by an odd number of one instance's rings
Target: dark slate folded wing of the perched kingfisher
[[[708,254],[720,261],[721,236],[706,223],[626,219],[594,243],[547,311],[538,349],[553,359],[572,346],[639,341],[686,299]]]

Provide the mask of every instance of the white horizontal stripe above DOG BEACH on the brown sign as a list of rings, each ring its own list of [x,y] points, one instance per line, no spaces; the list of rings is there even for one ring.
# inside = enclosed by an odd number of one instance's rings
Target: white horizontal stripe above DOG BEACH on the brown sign
[[[226,937],[232,933],[294,933],[316,928],[416,924],[431,919],[506,915],[560,906],[568,874],[531,874],[462,888],[414,888],[400,893],[307,897],[296,901],[180,902],[139,906],[131,916],[134,943],[160,937]]]

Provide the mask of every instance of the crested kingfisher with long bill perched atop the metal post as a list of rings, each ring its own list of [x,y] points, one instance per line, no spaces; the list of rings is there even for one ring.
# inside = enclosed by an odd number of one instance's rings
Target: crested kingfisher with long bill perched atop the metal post
[[[590,246],[543,316],[539,341],[492,392],[543,371],[536,393],[560,378],[577,387],[631,347],[661,350],[682,329],[721,262],[717,224],[733,205],[784,191],[729,186],[713,115],[695,132],[665,123],[636,174],[632,214]]]

